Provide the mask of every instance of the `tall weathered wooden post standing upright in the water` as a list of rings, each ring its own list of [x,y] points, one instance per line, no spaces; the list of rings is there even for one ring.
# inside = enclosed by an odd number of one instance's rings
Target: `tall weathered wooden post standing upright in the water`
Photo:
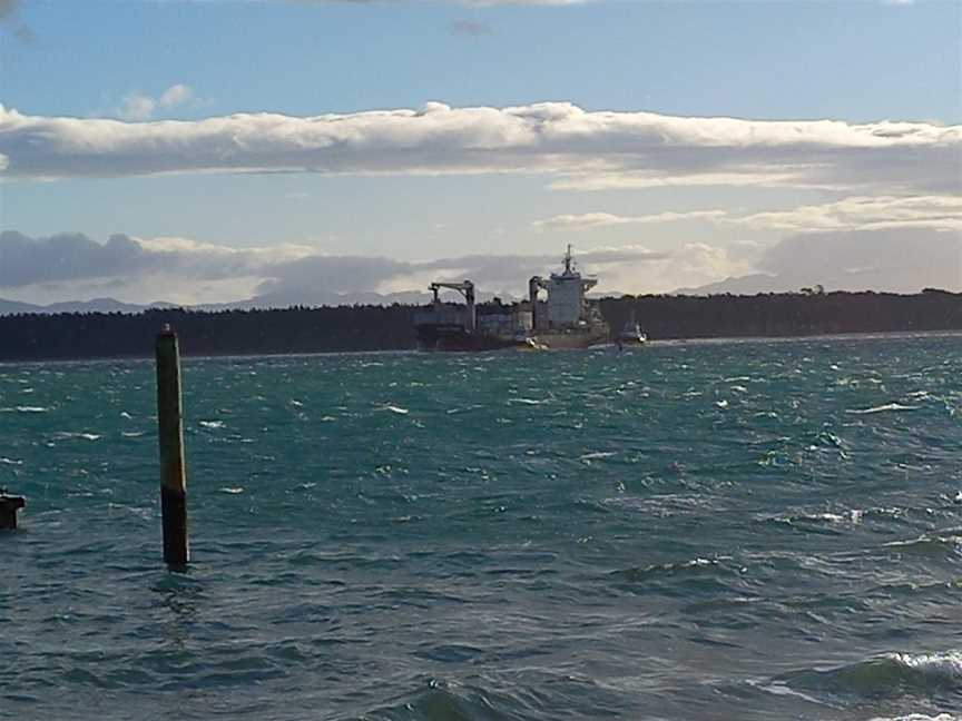
[[[160,512],[164,561],[183,570],[187,543],[187,474],[184,463],[184,415],[180,407],[180,352],[177,334],[165,325],[157,336],[157,425],[160,442]]]

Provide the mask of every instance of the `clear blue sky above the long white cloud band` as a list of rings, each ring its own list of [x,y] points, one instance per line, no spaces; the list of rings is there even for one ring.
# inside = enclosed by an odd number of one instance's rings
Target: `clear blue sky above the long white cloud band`
[[[24,2],[6,105],[109,111],[175,83],[203,117],[568,100],[668,115],[959,122],[956,2]],[[469,21],[490,33],[465,34]]]

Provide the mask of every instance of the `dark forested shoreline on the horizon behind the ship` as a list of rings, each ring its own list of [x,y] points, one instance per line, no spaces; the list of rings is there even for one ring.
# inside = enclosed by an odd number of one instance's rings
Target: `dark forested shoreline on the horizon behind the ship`
[[[934,289],[915,295],[647,295],[599,303],[612,330],[620,329],[634,310],[651,339],[962,330],[962,294]],[[0,316],[0,360],[150,356],[166,323],[179,334],[185,355],[404,350],[416,347],[418,309],[369,305],[14,314]],[[497,310],[492,304],[480,308]]]

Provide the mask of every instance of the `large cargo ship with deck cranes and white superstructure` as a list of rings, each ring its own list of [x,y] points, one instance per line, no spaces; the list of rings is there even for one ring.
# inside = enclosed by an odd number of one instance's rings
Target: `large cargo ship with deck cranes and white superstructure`
[[[479,313],[474,284],[432,283],[430,308],[414,317],[418,343],[425,350],[497,350],[519,348],[553,350],[588,348],[607,343],[610,328],[601,318],[597,302],[586,297],[598,284],[582,276],[571,256],[571,246],[562,259],[561,273],[534,276],[528,282],[528,299],[505,306],[484,306]],[[464,298],[464,305],[442,303],[440,292],[452,289]],[[546,299],[539,295],[546,292]]]

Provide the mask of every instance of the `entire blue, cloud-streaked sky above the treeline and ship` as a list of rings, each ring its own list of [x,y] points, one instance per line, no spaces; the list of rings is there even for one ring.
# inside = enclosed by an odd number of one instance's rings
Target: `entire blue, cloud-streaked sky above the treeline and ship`
[[[0,103],[8,299],[962,290],[954,0],[0,0]]]

